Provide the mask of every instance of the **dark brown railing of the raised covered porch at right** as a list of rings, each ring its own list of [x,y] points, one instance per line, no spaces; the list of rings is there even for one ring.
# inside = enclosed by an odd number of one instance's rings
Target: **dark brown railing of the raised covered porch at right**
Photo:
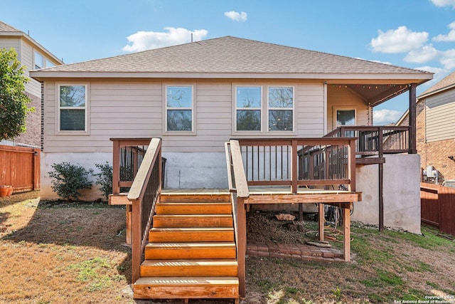
[[[358,137],[355,153],[370,155],[411,153],[409,126],[343,126],[326,137]]]

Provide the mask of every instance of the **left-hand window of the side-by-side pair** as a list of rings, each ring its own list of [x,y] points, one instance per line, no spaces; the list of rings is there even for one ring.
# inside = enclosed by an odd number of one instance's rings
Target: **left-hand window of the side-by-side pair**
[[[237,87],[235,102],[236,131],[260,131],[261,87]]]

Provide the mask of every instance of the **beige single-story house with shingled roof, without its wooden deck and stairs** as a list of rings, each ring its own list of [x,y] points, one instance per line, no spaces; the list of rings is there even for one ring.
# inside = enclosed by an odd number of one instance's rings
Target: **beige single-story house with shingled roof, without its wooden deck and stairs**
[[[231,36],[31,76],[43,82],[43,199],[56,197],[52,164],[96,169],[112,162],[111,138],[161,137],[166,188],[228,188],[224,143],[231,138],[323,137],[343,125],[372,126],[373,107],[408,91],[413,105],[417,85],[432,79],[420,70]],[[385,226],[419,233],[419,157],[415,147],[406,151],[385,157]],[[382,182],[378,166],[364,164],[356,187],[363,201],[353,219],[378,224]],[[85,192],[86,199],[99,196]]]

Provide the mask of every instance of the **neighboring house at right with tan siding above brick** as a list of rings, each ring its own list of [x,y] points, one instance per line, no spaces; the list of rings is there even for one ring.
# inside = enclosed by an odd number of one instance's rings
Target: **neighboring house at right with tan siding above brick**
[[[417,152],[422,181],[455,179],[455,72],[417,97]],[[407,125],[409,111],[397,125]]]

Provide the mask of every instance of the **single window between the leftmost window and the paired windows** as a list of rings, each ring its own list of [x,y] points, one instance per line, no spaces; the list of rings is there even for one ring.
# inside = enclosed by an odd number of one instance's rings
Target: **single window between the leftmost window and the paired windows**
[[[167,86],[166,131],[193,131],[193,86]]]

